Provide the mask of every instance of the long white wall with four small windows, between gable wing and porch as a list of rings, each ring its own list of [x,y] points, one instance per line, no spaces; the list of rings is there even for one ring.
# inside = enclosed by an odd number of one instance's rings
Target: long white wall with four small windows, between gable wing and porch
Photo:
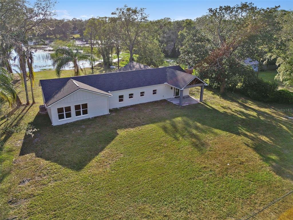
[[[157,94],[153,95],[153,90],[157,90]],[[144,97],[140,96],[140,92],[145,92]],[[168,84],[159,84],[154,86],[139,87],[134,89],[125,89],[120,91],[110,92],[112,96],[109,98],[109,109],[120,108],[123,106],[135,105],[139,103],[145,103],[150,101],[158,101],[162,99],[169,99],[174,97],[174,87]],[[134,94],[133,99],[129,99],[128,95]],[[183,95],[188,95],[189,89],[183,90]],[[118,97],[124,95],[123,102],[118,101]]]

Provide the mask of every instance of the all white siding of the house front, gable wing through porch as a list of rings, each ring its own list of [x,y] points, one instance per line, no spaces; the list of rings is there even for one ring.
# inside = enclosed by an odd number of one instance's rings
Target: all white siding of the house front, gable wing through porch
[[[157,90],[157,94],[153,95],[153,90]],[[140,97],[140,92],[145,92],[144,97]],[[95,117],[99,115],[109,114],[109,109],[114,109],[123,106],[129,106],[144,102],[157,101],[162,99],[169,99],[174,97],[174,87],[168,84],[160,84],[154,86],[140,87],[134,89],[125,89],[115,92],[110,92],[113,96],[109,97],[100,95],[93,92],[88,92],[84,90],[79,90],[68,97],[57,101],[51,106],[47,107],[49,117],[51,119],[52,125],[60,125],[64,123],[69,123],[72,121],[77,121],[80,119],[86,119],[90,117]],[[133,99],[128,98],[128,94],[133,93]],[[189,89],[183,89],[183,96],[189,94]],[[124,101],[119,102],[119,95],[124,95]],[[85,116],[75,116],[74,105],[78,104],[88,104],[88,115]],[[108,104],[109,103],[109,104]],[[71,118],[58,120],[57,108],[71,106]]]

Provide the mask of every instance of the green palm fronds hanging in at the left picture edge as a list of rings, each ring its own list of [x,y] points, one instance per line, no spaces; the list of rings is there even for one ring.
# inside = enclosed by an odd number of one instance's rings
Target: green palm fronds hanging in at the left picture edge
[[[4,67],[0,67],[0,99],[7,101],[10,106],[16,101],[16,90],[12,84],[13,75]]]

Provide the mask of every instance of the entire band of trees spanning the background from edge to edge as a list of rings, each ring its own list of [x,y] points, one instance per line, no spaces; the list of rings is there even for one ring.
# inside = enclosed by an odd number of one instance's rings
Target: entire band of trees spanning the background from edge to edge
[[[68,39],[74,31],[90,46],[84,52],[74,47],[57,48],[53,60],[57,76],[69,62],[74,64],[74,75],[79,75],[79,59],[89,60],[93,70],[94,62],[102,57],[103,64],[109,67],[113,54],[118,57],[119,68],[120,52],[127,51],[129,61],[136,54],[137,62],[152,67],[162,65],[164,57],[177,57],[178,64],[193,68],[221,92],[248,91],[248,85],[258,82],[257,75],[243,63],[248,57],[260,63],[275,62],[279,67],[276,78],[285,84],[293,81],[293,16],[292,11],[280,10],[279,6],[262,9],[253,3],[241,3],[209,9],[206,15],[195,20],[150,21],[144,8],[127,5],[114,10],[111,17],[58,20],[54,18],[54,4],[52,0],[37,0],[33,5],[25,0],[0,3],[0,64],[12,72],[9,59],[11,51],[16,51],[26,104],[30,103],[26,78],[29,77],[33,86],[32,53],[36,45],[50,37]]]

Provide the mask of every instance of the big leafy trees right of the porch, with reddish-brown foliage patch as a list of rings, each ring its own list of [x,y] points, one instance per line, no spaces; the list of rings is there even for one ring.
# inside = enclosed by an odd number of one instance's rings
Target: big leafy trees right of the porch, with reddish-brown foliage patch
[[[221,92],[248,87],[255,91],[254,83],[266,86],[243,63],[248,57],[260,65],[274,60],[278,65],[276,79],[292,84],[293,13],[279,9],[262,9],[253,3],[209,9],[189,29],[177,62],[194,67],[200,77]]]

